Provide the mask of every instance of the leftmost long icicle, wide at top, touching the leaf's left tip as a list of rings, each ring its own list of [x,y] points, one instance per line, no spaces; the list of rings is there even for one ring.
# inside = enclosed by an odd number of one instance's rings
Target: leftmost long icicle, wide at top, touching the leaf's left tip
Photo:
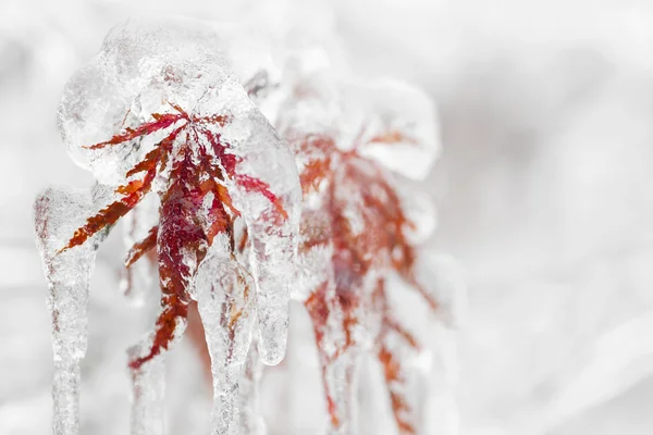
[[[34,207],[37,247],[50,288],[56,435],[74,435],[79,430],[79,362],[87,348],[88,288],[97,244],[103,235],[65,251],[62,248],[93,209],[91,202],[88,191],[48,188]]]

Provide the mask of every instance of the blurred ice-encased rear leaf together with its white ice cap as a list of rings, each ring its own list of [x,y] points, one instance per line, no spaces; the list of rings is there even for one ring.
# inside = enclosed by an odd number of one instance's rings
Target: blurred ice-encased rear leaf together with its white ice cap
[[[328,74],[300,78],[288,95],[278,128],[295,152],[304,190],[295,296],[315,328],[329,433],[356,434],[365,425],[356,422],[356,381],[362,353],[371,351],[398,432],[416,434],[420,409],[410,382],[420,374],[409,372],[422,348],[395,316],[386,285],[396,274],[439,309],[416,268],[432,216],[408,219],[387,167],[427,174],[439,151],[432,103],[403,83],[349,84]]]

